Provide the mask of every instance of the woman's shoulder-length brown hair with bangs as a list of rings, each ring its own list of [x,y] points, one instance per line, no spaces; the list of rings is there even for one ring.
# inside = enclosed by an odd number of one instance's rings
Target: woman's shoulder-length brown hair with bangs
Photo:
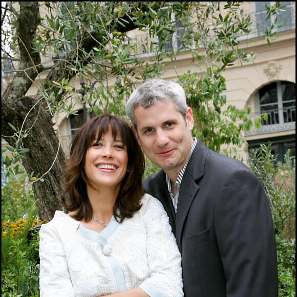
[[[88,179],[84,172],[86,154],[95,139],[99,141],[101,135],[111,129],[114,139],[120,135],[128,152],[128,171],[121,182],[119,195],[115,201],[113,215],[120,218],[131,218],[141,207],[143,196],[142,176],[145,160],[132,129],[122,119],[109,114],[92,117],[78,130],[72,140],[70,158],[64,174],[64,190],[67,194],[65,209],[76,210],[73,216],[76,220],[91,220],[93,209],[87,195]],[[96,138],[97,137],[97,138]]]

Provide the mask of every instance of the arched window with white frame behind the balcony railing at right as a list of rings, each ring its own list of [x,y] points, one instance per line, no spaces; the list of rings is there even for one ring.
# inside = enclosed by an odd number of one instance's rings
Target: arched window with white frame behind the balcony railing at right
[[[268,116],[262,120],[262,126],[295,122],[295,83],[272,82],[260,89],[256,97],[260,114]]]

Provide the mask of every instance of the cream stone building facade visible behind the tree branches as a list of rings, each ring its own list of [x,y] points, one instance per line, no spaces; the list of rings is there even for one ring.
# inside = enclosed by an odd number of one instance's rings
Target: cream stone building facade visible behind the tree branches
[[[263,4],[272,2],[245,3],[246,13],[253,15],[253,19],[265,25],[266,11]],[[261,143],[272,142],[272,152],[278,155],[278,160],[283,161],[283,156],[288,149],[291,158],[295,158],[295,2],[282,2],[287,6],[278,18],[286,20],[286,24],[278,29],[278,38],[271,45],[262,37],[264,27],[255,24],[257,28],[252,36],[254,41],[242,40],[240,48],[247,53],[257,53],[253,62],[227,67],[223,73],[226,78],[226,105],[232,104],[239,109],[251,107],[251,119],[256,119],[260,114],[266,113],[267,120],[262,120],[261,128],[254,126],[243,136],[248,143],[248,149],[258,149]],[[268,20],[267,22],[271,22]],[[269,24],[268,24],[269,25]],[[145,33],[141,33],[145,34]],[[131,32],[132,38],[141,38],[140,33]],[[168,50],[178,47],[178,40],[173,34],[172,44]],[[143,54],[145,58],[145,55]],[[5,67],[9,67],[5,66]],[[199,72],[200,69],[193,63],[192,53],[181,50],[175,61],[168,60],[163,79],[176,81],[179,76],[190,72]],[[45,79],[47,71],[40,74],[41,80]],[[3,76],[2,90],[9,83],[12,76]],[[36,86],[38,86],[36,81]],[[79,79],[70,82],[78,90],[81,88]],[[36,94],[36,88],[31,87],[28,96]],[[75,131],[81,124],[90,118],[86,106],[81,103],[75,105],[78,116],[66,117],[61,113],[56,121],[59,129],[61,146],[69,155],[70,143]],[[55,119],[54,119],[55,121]],[[5,141],[2,140],[2,146]],[[248,155],[243,149],[238,150],[239,156],[247,163]]]

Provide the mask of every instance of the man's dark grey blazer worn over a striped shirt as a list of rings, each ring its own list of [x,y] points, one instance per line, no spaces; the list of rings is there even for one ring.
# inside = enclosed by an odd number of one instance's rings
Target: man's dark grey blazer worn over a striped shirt
[[[268,198],[242,162],[198,140],[175,214],[163,170],[143,182],[167,211],[182,255],[185,297],[278,296]]]

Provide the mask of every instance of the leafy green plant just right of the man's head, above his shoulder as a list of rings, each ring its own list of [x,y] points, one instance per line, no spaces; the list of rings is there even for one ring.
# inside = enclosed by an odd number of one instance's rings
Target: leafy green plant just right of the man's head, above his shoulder
[[[228,151],[226,148],[222,149],[222,145],[242,146],[242,132],[248,131],[252,125],[248,118],[250,108],[245,111],[229,105],[223,110],[226,105],[226,98],[222,95],[226,90],[225,78],[218,70],[213,73],[211,67],[200,74],[188,71],[178,82],[183,86],[188,106],[193,110],[193,135],[211,150],[229,156],[236,154],[235,146],[230,147]],[[239,120],[241,123],[236,123]]]

